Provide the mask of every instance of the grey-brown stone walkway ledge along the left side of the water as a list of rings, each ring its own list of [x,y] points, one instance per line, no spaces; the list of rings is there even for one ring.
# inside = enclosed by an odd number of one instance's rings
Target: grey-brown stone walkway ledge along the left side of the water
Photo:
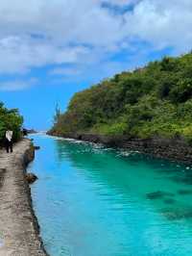
[[[0,150],[0,256],[47,255],[25,179],[34,155],[27,139],[16,143],[12,154]]]

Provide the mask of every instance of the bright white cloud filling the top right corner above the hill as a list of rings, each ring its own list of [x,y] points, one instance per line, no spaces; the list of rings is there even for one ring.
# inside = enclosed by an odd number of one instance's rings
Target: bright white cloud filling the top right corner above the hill
[[[184,52],[192,43],[192,2],[143,0],[126,14],[126,24],[132,35],[152,43],[156,49],[173,47]]]

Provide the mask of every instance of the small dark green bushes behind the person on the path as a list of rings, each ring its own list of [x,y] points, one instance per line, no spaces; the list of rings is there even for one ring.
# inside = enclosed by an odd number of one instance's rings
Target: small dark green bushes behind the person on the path
[[[18,110],[8,110],[3,103],[0,102],[0,145],[3,144],[6,130],[13,131],[13,141],[20,138],[21,125],[23,117],[19,115]]]

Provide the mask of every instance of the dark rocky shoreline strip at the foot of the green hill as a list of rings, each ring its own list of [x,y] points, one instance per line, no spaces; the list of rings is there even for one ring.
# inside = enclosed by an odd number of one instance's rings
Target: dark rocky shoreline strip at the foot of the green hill
[[[94,143],[102,143],[109,147],[124,148],[128,150],[139,151],[160,159],[178,161],[186,164],[192,164],[192,146],[180,139],[130,139],[125,136],[102,136],[96,134],[67,134],[60,135],[58,133],[48,133],[52,136],[62,138],[75,139],[80,141],[90,141]]]

